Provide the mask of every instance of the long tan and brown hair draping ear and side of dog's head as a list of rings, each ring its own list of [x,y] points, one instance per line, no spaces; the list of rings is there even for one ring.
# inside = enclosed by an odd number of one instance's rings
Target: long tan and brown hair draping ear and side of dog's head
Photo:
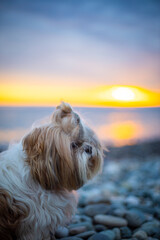
[[[26,161],[33,179],[44,189],[73,190],[83,183],[73,161],[70,139],[59,128],[36,128],[23,139]]]

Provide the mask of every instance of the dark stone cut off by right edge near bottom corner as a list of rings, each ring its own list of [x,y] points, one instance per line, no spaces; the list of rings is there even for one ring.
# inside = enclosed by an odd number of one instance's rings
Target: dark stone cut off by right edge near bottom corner
[[[148,236],[158,235],[160,229],[160,223],[158,222],[147,222],[141,226],[141,229],[144,230]],[[160,234],[160,233],[159,233]]]

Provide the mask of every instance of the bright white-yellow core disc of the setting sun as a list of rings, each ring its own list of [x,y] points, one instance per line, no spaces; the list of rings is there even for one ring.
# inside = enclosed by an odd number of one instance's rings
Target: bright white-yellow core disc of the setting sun
[[[132,101],[135,94],[129,87],[116,87],[112,90],[112,97],[120,101]]]

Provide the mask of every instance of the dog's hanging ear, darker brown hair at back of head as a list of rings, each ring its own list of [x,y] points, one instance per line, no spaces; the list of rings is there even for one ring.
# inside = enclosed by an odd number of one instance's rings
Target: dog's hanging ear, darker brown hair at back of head
[[[46,127],[35,128],[23,139],[23,149],[33,179],[38,181],[43,188],[53,189],[55,177],[48,152],[51,143],[46,141],[49,138],[48,132]],[[54,151],[54,145],[52,145],[52,151]]]

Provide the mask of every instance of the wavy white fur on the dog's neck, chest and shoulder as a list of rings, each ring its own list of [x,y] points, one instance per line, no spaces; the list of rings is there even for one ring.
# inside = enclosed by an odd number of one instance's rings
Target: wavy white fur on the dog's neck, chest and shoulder
[[[34,182],[25,163],[21,142],[1,153],[0,166],[0,187],[29,207],[29,215],[20,225],[18,239],[50,239],[50,232],[54,233],[58,225],[65,225],[74,214],[74,192],[55,193]]]

